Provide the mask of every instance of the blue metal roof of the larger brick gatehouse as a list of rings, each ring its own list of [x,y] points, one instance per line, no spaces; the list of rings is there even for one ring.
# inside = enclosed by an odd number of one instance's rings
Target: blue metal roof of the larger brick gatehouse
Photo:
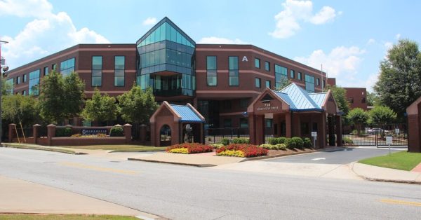
[[[274,92],[290,106],[290,111],[323,111],[326,92],[309,93],[295,83]]]

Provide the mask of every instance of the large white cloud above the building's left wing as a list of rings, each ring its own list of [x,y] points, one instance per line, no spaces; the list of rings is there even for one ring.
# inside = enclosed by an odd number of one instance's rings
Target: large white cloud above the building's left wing
[[[4,49],[2,55],[11,69],[78,43],[109,43],[104,36],[87,27],[76,29],[72,18],[67,13],[52,13],[53,8],[47,1],[30,0],[27,2],[29,5],[34,2],[42,4],[41,8],[44,8],[44,13],[49,15],[44,18],[30,12],[25,14],[20,11],[8,10],[7,15],[36,18],[27,23],[16,36],[4,36],[3,38],[9,43],[2,47]],[[3,8],[8,6],[15,8],[19,4],[23,8],[27,7],[26,3],[22,1],[0,1],[0,8],[2,8],[0,10],[4,10]]]

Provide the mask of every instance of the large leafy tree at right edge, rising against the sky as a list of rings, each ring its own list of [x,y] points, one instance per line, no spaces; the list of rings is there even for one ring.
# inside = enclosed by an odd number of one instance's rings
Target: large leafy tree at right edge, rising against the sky
[[[415,41],[400,40],[387,52],[374,89],[380,104],[402,119],[406,107],[421,96],[421,53]]]

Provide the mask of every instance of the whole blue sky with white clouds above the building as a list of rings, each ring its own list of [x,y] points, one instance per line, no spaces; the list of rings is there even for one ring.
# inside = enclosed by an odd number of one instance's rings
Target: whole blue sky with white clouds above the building
[[[409,0],[0,0],[0,39],[11,41],[2,55],[13,69],[76,43],[135,43],[168,16],[196,43],[250,43],[370,89],[387,48],[421,42],[420,8]]]

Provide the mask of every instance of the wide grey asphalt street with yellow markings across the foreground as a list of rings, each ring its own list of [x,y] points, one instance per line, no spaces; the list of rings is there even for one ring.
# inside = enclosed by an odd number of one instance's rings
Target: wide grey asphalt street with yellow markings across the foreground
[[[27,149],[0,148],[0,175],[170,219],[419,219],[421,213],[418,185],[235,172]]]

